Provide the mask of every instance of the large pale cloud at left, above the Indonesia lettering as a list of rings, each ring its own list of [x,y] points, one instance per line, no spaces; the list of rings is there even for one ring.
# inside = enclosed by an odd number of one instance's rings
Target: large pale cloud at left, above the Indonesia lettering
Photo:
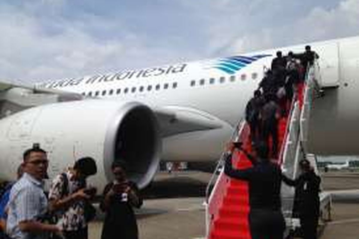
[[[42,1],[50,4],[53,1]],[[65,1],[56,1],[63,8]],[[78,77],[98,72],[118,71],[123,68],[148,66],[157,54],[162,60],[176,58],[175,50],[147,46],[146,38],[135,32],[126,32],[121,23],[85,14],[84,21],[43,19],[34,14],[43,5],[18,8],[6,5],[0,11],[0,71],[1,78],[41,81],[49,78]],[[51,6],[54,10],[55,7]],[[54,10],[56,11],[56,10]],[[49,21],[52,28],[48,29]],[[88,25],[86,25],[88,24]],[[109,37],[97,34],[92,29],[108,33],[121,30],[121,35]],[[158,58],[158,59],[161,59]],[[158,63],[163,63],[158,60]]]

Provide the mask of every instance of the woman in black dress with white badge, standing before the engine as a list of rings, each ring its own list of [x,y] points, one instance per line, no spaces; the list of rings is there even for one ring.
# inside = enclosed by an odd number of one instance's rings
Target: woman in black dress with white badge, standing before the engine
[[[106,212],[101,239],[137,239],[138,229],[132,207],[142,205],[138,188],[134,182],[127,181],[124,162],[115,161],[111,168],[115,180],[106,185],[100,205]]]

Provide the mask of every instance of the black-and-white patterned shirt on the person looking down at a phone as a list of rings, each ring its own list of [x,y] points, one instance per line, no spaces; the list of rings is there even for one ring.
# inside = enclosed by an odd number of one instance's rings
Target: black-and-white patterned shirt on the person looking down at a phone
[[[49,192],[49,201],[63,199],[84,187],[82,181],[74,179],[74,175],[70,170],[67,170],[65,174],[68,181],[67,190],[64,188],[63,174],[57,175],[52,181]],[[66,193],[68,194],[66,195]],[[64,231],[76,231],[86,227],[84,205],[84,201],[75,201],[70,207],[67,207],[58,213],[60,225]]]

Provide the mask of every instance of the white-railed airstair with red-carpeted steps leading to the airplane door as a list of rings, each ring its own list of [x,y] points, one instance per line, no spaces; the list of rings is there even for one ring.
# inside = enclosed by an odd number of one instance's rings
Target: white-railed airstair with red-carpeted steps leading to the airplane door
[[[320,72],[318,64],[308,68],[306,80],[298,86],[293,97],[289,114],[278,122],[278,144],[280,152],[273,162],[278,163],[286,176],[295,178],[299,174],[298,162],[307,158],[317,170],[316,157],[306,153],[309,115],[314,91],[318,91]],[[251,152],[250,128],[246,121],[241,120],[231,141],[243,142],[243,148]],[[233,167],[238,169],[251,167],[251,162],[242,152],[234,152]],[[206,189],[206,238],[207,239],[251,239],[248,223],[249,191],[248,183],[229,178],[224,174],[224,155]],[[293,187],[282,183],[282,211],[286,220],[286,235],[300,226],[299,220],[292,217],[294,198]],[[264,199],[265,200],[265,199]],[[330,217],[330,195],[321,195],[321,210],[328,211]]]

